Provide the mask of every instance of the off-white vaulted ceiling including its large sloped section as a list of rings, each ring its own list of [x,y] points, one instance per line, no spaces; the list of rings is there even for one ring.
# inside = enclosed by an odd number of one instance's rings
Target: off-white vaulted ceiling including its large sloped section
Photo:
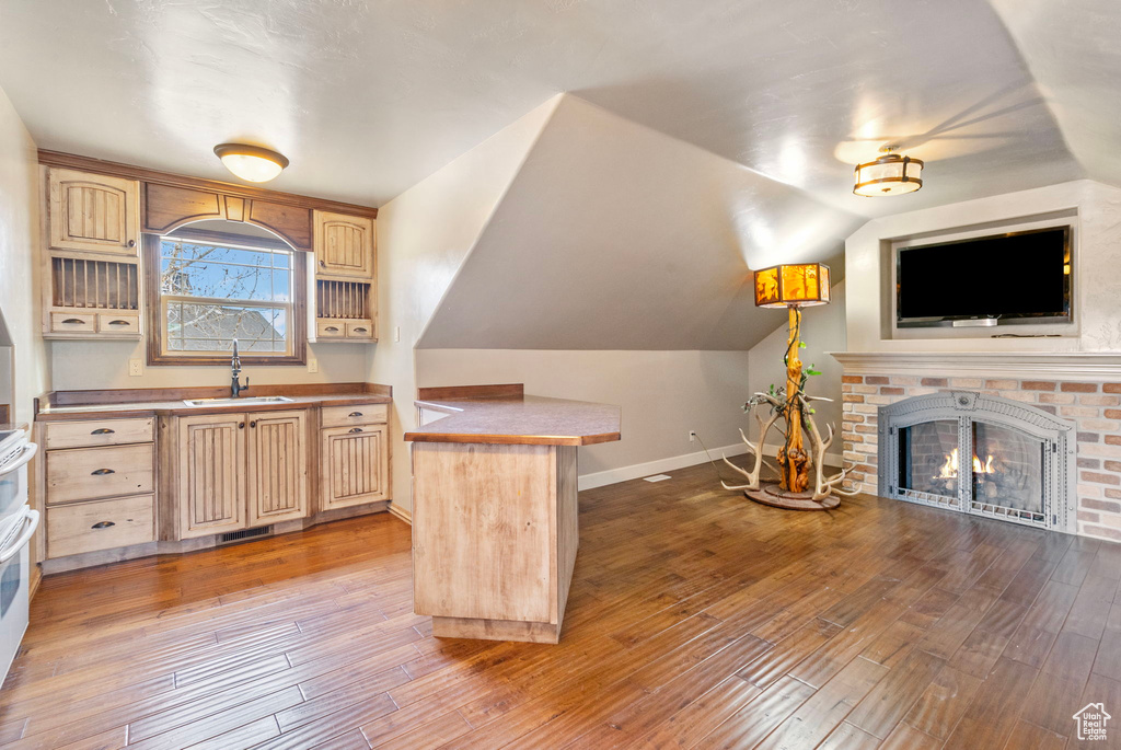
[[[781,324],[749,268],[1121,184],[1119,31],[1115,0],[0,0],[0,87],[43,148],[231,179],[212,147],[257,142],[291,159],[270,186],[371,205],[454,204],[442,168],[524,123],[487,220],[409,250],[461,259],[417,344],[745,349]],[[886,143],[926,185],[852,195]]]

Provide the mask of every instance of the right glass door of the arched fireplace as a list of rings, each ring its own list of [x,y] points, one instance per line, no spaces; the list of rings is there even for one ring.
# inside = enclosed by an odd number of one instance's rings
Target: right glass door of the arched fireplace
[[[973,510],[1044,518],[1044,441],[973,423]]]

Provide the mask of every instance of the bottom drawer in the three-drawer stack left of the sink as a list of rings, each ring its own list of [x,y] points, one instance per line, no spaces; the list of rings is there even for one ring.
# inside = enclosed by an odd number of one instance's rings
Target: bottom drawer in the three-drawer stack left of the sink
[[[47,509],[47,557],[128,547],[156,540],[150,494]]]

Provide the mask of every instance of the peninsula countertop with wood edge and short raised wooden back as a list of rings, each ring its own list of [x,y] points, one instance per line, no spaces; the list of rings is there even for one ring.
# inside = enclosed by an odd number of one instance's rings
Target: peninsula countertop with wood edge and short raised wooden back
[[[421,388],[416,405],[450,416],[405,434],[415,443],[592,445],[620,439],[618,406],[527,396],[521,386]]]

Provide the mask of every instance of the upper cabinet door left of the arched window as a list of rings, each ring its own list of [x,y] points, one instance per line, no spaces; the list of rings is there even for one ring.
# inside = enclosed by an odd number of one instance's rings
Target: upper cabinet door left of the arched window
[[[52,248],[139,256],[139,183],[54,168],[47,183]]]

